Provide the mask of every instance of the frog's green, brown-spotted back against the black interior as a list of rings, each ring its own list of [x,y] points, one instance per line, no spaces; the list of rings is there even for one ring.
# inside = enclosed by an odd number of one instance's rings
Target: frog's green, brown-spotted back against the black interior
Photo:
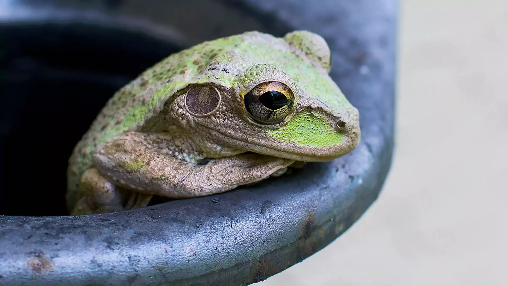
[[[67,202],[77,201],[81,175],[92,165],[92,153],[107,139],[128,131],[139,131],[161,112],[168,96],[183,88],[189,79],[230,46],[241,43],[242,35],[204,42],[168,56],[117,91],[106,103],[78,142],[69,159]]]

